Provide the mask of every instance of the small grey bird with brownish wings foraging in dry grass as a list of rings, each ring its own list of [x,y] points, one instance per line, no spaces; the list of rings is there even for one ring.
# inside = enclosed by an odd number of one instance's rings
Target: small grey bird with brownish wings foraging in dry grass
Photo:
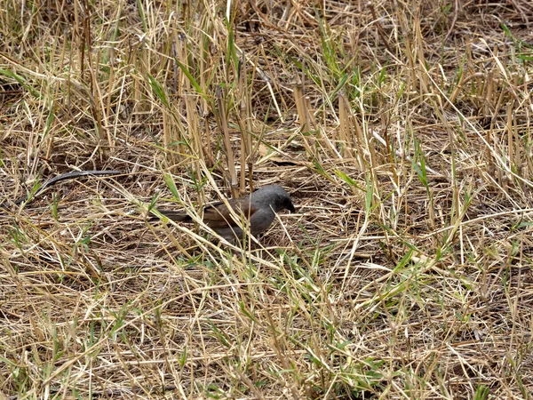
[[[253,236],[258,236],[270,227],[274,222],[276,212],[285,209],[295,212],[289,195],[278,185],[264,186],[251,195],[232,198],[228,200],[228,203],[237,215],[242,214],[250,220],[250,230]],[[157,211],[170,220],[192,222],[187,212],[159,209]],[[150,220],[157,220],[157,218],[153,217]],[[235,238],[243,238],[243,229],[232,218],[223,202],[206,205],[203,208],[203,222],[228,242],[234,242]]]

